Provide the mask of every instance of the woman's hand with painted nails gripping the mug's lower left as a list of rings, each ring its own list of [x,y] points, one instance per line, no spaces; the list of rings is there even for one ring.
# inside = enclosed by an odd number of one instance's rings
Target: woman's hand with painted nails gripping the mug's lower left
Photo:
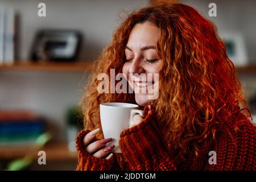
[[[114,144],[106,147],[106,143],[111,142],[112,138],[106,138],[102,140],[98,140],[95,138],[96,134],[100,131],[100,129],[96,129],[90,131],[88,134],[85,135],[83,139],[83,145],[85,147],[85,151],[89,154],[93,155],[96,158],[105,158],[106,155],[110,153],[114,149]],[[96,141],[95,141],[96,140]],[[110,159],[113,154],[109,154],[106,159]]]

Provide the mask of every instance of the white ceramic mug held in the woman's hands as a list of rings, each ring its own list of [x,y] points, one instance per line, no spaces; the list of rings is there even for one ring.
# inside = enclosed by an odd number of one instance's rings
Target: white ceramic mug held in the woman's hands
[[[138,109],[138,105],[122,103],[122,102],[106,102],[100,104],[101,127],[104,138],[113,138],[112,142],[106,144],[114,144],[113,152],[121,153],[118,146],[119,136],[121,132],[133,125],[133,117],[139,114],[143,117],[143,111]]]

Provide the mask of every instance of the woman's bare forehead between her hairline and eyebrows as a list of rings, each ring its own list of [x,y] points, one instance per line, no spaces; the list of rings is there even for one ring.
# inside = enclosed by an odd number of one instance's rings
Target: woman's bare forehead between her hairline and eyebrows
[[[156,45],[160,35],[160,29],[150,22],[137,23],[131,30],[127,46],[138,47]]]

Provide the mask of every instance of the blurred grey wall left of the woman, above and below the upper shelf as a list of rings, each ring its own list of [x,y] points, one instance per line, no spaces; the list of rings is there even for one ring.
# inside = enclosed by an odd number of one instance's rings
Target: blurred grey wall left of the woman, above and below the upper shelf
[[[38,3],[46,3],[46,18],[38,17]],[[92,60],[111,39],[112,32],[126,15],[148,1],[135,0],[1,0],[0,7],[13,7],[20,16],[19,51],[21,60],[29,60],[35,32],[40,28],[72,28],[85,38],[80,60]],[[56,140],[65,138],[65,110],[82,97],[84,73],[0,72],[0,109],[29,109],[51,121]],[[83,79],[84,78],[84,79]]]

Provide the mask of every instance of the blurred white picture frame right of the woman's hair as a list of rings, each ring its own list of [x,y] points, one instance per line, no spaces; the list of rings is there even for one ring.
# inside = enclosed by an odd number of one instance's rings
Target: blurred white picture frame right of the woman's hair
[[[221,39],[226,45],[226,53],[235,66],[249,64],[245,38],[240,32],[223,32]]]

